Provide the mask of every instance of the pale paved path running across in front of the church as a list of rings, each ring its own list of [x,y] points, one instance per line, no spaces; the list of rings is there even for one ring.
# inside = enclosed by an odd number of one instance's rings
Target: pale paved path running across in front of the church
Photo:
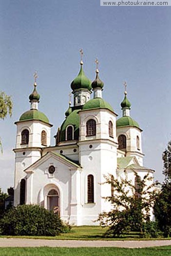
[[[107,240],[47,240],[27,238],[0,238],[0,247],[122,247],[142,248],[171,245],[171,240],[107,241]]]

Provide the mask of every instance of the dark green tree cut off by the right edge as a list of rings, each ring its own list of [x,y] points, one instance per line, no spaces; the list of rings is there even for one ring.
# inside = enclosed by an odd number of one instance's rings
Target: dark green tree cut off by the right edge
[[[155,200],[154,215],[160,230],[168,237],[171,236],[171,141],[163,151],[162,158],[165,181]]]

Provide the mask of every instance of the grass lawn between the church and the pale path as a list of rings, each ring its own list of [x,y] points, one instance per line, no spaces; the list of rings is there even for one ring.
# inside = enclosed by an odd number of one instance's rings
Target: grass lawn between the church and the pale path
[[[5,236],[1,235],[0,237],[19,237],[19,238],[43,238],[43,239],[58,239],[58,240],[149,240],[149,238],[139,238],[139,234],[130,233],[127,235],[123,235],[122,237],[116,238],[104,238],[103,235],[106,231],[106,228],[101,228],[99,226],[80,226],[80,227],[72,227],[70,233],[61,234],[58,236]],[[159,238],[162,239],[162,238]],[[168,238],[163,238],[168,239]],[[153,239],[155,240],[155,239]]]

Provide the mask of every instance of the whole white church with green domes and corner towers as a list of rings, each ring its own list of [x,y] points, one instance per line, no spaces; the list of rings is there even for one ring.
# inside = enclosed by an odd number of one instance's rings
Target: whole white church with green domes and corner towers
[[[69,103],[55,146],[50,145],[52,125],[38,110],[35,75],[31,107],[15,123],[15,206],[38,204],[71,225],[97,225],[93,221],[98,214],[111,208],[104,197],[114,192],[110,184],[101,184],[104,175],[119,179],[127,173],[133,183],[134,171],[141,178],[147,173],[153,177],[154,171],[143,167],[142,129],[130,116],[126,90],[122,117],[117,119],[102,97],[104,84],[98,73],[96,68],[91,83],[81,59],[79,74],[71,83],[74,106]]]

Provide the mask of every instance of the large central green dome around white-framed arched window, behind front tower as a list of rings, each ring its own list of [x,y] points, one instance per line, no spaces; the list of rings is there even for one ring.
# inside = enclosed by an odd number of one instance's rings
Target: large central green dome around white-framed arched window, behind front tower
[[[65,121],[62,123],[60,128],[60,141],[65,141],[66,128],[71,125],[74,127],[74,139],[78,140],[79,138],[79,114],[78,112],[81,109],[75,109],[68,115]]]

